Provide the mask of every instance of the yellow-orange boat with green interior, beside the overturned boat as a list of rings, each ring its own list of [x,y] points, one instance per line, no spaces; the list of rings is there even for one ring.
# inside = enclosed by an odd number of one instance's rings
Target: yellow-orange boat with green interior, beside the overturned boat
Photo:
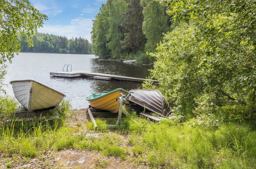
[[[96,93],[86,97],[91,107],[100,110],[107,110],[111,113],[117,113],[119,111],[119,102],[116,101],[121,94],[128,95],[129,92],[118,88],[108,93]]]

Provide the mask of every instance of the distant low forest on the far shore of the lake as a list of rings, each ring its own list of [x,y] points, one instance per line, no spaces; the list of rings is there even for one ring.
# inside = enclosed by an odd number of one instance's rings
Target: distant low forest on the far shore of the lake
[[[32,36],[33,46],[29,46],[26,38],[18,36],[21,52],[92,54],[92,45],[81,37],[68,39],[66,36],[36,33]]]

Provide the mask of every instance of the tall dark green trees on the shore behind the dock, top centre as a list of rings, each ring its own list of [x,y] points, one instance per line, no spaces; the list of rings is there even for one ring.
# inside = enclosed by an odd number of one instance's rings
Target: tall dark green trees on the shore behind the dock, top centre
[[[149,62],[163,33],[170,30],[166,3],[152,0],[109,0],[93,21],[93,52],[100,58],[136,58]]]

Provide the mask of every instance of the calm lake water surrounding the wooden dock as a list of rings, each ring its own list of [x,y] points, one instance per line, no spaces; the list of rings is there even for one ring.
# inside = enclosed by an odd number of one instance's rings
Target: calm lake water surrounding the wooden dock
[[[33,79],[57,91],[64,93],[72,109],[88,107],[86,97],[91,93],[109,92],[116,88],[126,90],[141,86],[137,82],[105,81],[86,78],[52,78],[50,72],[62,71],[65,64],[71,64],[72,70],[95,71],[114,75],[145,78],[149,75],[150,66],[136,66],[115,61],[98,61],[94,55],[19,53],[8,64],[4,89],[14,96],[11,80]]]

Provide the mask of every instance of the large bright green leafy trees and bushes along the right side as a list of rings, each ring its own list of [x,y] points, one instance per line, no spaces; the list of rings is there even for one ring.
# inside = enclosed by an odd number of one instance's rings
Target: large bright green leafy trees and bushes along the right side
[[[253,121],[255,2],[165,2],[174,25],[152,54],[151,75],[162,80],[160,90],[174,110],[192,115],[201,104],[213,112],[241,104],[250,107],[244,117]]]

